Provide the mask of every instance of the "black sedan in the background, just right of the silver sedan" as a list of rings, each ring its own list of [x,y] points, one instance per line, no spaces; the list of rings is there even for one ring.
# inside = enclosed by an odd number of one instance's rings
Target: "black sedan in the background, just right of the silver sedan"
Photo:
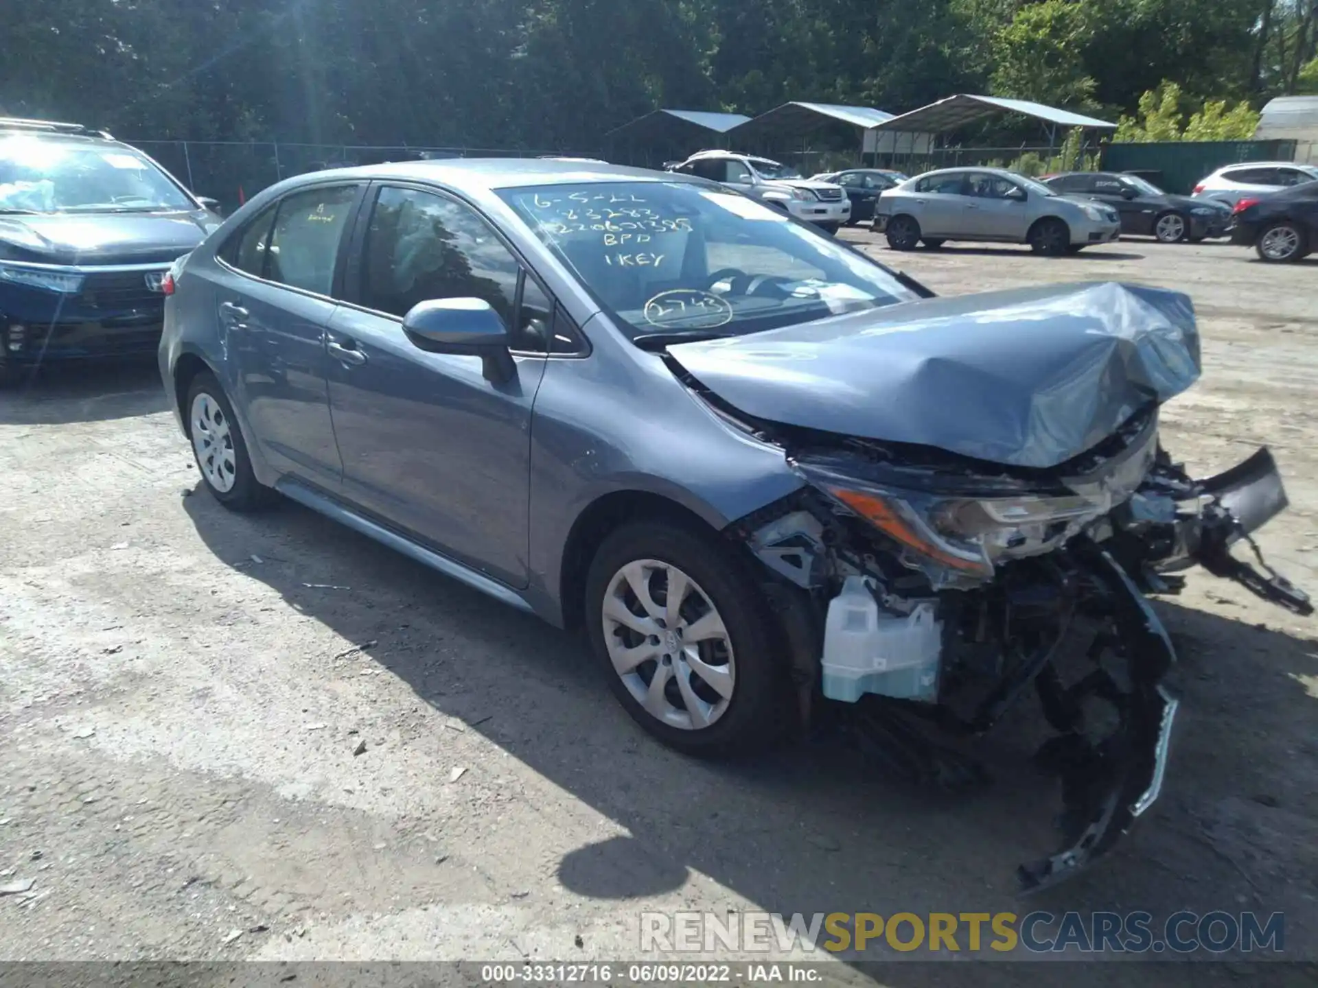
[[[1070,171],[1043,179],[1058,192],[1099,199],[1122,217],[1122,234],[1157,237],[1164,244],[1231,232],[1231,208],[1211,199],[1164,192],[1137,175],[1112,171]]]

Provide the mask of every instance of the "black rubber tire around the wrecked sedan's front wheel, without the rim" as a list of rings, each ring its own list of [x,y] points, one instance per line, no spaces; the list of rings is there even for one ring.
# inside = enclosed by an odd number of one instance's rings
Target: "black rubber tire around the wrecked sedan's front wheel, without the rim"
[[[717,609],[728,631],[734,671],[731,697],[722,714],[706,727],[677,727],[651,715],[629,692],[609,657],[605,595],[622,568],[639,560],[666,563],[685,573]],[[664,744],[697,756],[755,754],[770,748],[792,723],[791,676],[778,622],[758,589],[749,561],[713,532],[666,520],[634,522],[612,532],[590,564],[584,614],[590,648],[613,694],[637,723]],[[658,661],[647,660],[637,667],[643,684],[654,681]],[[676,693],[676,677],[670,682]]]

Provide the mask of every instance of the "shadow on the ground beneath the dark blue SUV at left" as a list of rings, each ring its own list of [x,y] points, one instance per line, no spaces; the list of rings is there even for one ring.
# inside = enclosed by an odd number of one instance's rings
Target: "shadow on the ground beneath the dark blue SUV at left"
[[[22,369],[0,389],[0,425],[107,422],[167,407],[153,357]]]

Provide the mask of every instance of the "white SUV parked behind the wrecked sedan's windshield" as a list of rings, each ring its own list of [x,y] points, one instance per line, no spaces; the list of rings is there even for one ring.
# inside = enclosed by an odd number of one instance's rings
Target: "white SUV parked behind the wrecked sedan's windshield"
[[[697,151],[670,171],[720,182],[836,233],[851,219],[851,200],[836,182],[818,182],[770,158],[735,151]]]

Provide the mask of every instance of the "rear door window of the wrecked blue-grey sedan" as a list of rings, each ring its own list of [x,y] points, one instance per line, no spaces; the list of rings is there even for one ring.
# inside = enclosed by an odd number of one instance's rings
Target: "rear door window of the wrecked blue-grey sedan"
[[[270,231],[265,277],[293,288],[330,295],[339,241],[356,198],[357,186],[333,186],[281,199]]]

